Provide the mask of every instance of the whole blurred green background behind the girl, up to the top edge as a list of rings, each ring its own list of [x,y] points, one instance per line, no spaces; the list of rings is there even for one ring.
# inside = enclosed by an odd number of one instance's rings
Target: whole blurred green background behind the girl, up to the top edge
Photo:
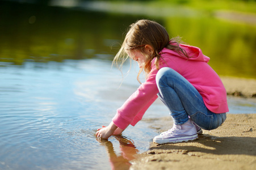
[[[156,20],[211,58],[220,75],[256,78],[256,1],[0,1],[0,66],[113,59],[129,24]]]

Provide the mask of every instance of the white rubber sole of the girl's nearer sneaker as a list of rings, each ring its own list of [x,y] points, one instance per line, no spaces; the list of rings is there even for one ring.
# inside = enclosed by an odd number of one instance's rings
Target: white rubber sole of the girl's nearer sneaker
[[[178,142],[187,142],[194,141],[198,138],[198,134],[186,136],[186,137],[176,137],[176,138],[166,138],[166,139],[153,139],[154,143],[164,144],[164,143],[178,143]]]

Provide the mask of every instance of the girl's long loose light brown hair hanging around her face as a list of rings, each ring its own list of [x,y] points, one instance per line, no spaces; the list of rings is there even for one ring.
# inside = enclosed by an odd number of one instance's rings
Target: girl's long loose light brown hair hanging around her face
[[[179,46],[179,41],[179,37],[170,40],[166,29],[161,24],[151,20],[138,20],[129,26],[127,35],[113,60],[113,64],[121,70],[123,63],[129,58],[127,52],[140,50],[141,54],[145,57],[145,63],[137,75],[137,80],[140,82],[139,75],[141,72],[144,70],[146,75],[148,75],[152,69],[153,58],[156,57],[154,64],[158,70],[160,69],[160,52],[163,48],[175,50],[180,55],[188,57],[186,51]],[[152,46],[153,51],[151,55],[145,53],[145,45]]]

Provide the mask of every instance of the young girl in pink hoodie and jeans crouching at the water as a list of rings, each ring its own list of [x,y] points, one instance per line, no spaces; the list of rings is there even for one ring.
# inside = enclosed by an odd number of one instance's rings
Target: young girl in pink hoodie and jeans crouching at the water
[[[154,143],[192,141],[202,129],[223,124],[228,112],[226,90],[199,48],[170,40],[156,22],[139,20],[130,25],[113,62],[123,64],[127,55],[139,63],[139,74],[145,71],[146,82],[117,109],[110,125],[98,129],[97,137],[107,139],[129,124],[135,126],[157,96],[169,108],[174,125],[154,137]]]

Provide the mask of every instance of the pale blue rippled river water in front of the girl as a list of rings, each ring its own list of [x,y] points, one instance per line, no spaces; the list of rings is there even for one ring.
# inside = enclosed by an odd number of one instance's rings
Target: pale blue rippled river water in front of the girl
[[[121,86],[120,71],[103,59],[26,62],[0,67],[0,74],[1,169],[125,167],[157,135],[145,121],[120,138],[98,142],[94,135],[139,86],[136,67]],[[230,113],[254,113],[256,103],[248,100],[229,97]],[[168,111],[160,101],[145,114],[165,116]]]

